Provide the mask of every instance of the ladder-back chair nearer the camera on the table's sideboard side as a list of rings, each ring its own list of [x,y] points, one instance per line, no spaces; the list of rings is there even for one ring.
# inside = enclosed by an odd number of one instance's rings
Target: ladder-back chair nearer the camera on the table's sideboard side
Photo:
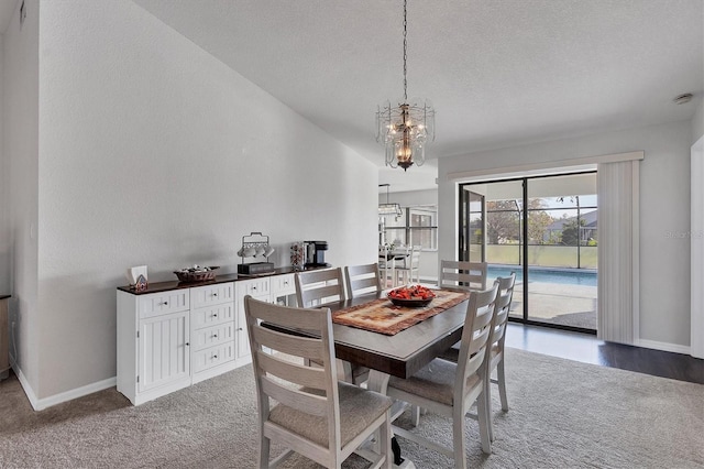
[[[315,308],[345,299],[340,268],[296,272],[294,279],[298,307]],[[349,361],[338,360],[338,378],[349,383],[361,384],[369,378],[369,369],[353,366]]]

